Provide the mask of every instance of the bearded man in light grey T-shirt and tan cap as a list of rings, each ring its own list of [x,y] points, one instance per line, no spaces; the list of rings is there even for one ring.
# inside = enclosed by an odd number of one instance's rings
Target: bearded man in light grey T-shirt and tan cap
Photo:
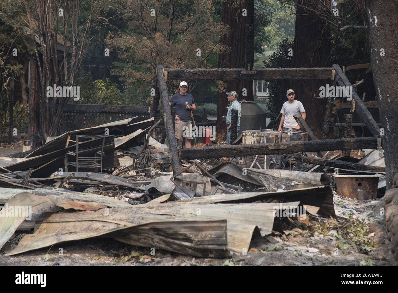
[[[287,90],[286,98],[287,101],[283,103],[281,109],[282,118],[278,131],[289,131],[289,129],[298,131],[300,130],[300,126],[297,124],[294,115],[300,113],[301,117],[305,120],[304,106],[300,101],[295,100],[295,92],[293,90]]]

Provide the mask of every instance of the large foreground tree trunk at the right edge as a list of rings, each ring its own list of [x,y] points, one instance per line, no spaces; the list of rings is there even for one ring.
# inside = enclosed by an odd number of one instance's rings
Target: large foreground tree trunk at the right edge
[[[398,125],[398,35],[396,33],[398,1],[366,0],[366,12],[373,82],[377,92],[381,127],[384,129],[384,135],[381,133],[380,138],[386,162],[386,184],[387,189],[390,189],[394,175],[398,173],[396,158],[398,146],[396,133]]]

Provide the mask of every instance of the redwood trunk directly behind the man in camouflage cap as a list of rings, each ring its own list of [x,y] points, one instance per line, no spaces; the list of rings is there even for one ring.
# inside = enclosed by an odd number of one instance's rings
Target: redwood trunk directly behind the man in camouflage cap
[[[245,65],[245,36],[246,25],[254,23],[254,0],[244,0],[241,5],[237,2],[242,0],[224,1],[222,6],[221,20],[230,28],[228,33],[221,37],[221,43],[230,48],[229,51],[219,54],[219,68],[244,68]],[[247,10],[247,15],[242,15],[242,10]],[[238,93],[238,100],[253,100],[253,81],[226,81],[226,91],[234,90]],[[242,96],[246,88],[246,96]],[[225,128],[225,122],[221,117],[226,115],[228,101],[225,90],[218,94],[217,104],[217,128]]]

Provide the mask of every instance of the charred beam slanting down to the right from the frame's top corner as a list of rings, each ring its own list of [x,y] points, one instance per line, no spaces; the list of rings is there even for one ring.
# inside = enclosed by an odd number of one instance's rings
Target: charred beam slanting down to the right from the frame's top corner
[[[352,87],[339,65],[334,64],[333,68],[336,72],[335,79],[337,85],[340,87]],[[355,113],[362,118],[371,134],[378,137],[380,135],[380,127],[378,127],[372,114],[366,108],[365,104],[363,104],[362,99],[358,96],[357,92],[355,92],[354,88],[352,90],[352,97],[355,100]]]

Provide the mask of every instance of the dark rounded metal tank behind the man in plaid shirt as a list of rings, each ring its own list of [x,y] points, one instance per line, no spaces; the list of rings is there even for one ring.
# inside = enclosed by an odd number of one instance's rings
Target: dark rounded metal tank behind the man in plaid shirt
[[[240,104],[242,113],[240,114],[240,129],[238,136],[245,130],[260,130],[267,125],[266,116],[263,109],[253,101],[244,101]]]

